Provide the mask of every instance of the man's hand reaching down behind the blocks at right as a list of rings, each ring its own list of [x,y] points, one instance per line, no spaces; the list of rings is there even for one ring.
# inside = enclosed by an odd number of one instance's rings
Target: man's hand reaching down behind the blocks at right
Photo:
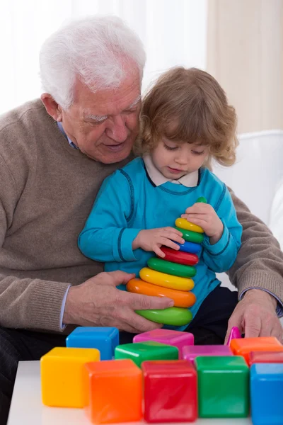
[[[225,344],[233,326],[238,327],[246,338],[276,336],[282,342],[283,329],[275,312],[276,305],[275,297],[264,290],[248,290],[229,319]]]

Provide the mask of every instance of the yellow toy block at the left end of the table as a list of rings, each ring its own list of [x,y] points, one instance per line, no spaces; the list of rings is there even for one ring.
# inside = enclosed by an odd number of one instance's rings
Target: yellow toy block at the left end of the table
[[[55,347],[42,356],[42,403],[54,407],[84,407],[83,365],[99,360],[100,351],[96,348]]]

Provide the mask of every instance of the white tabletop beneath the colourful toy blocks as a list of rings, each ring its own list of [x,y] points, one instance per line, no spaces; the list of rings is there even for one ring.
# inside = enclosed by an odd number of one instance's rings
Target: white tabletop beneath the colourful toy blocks
[[[18,365],[8,425],[91,425],[83,409],[45,407],[41,402],[40,362]],[[185,425],[185,423],[183,422]],[[251,425],[250,419],[198,419],[197,425]],[[127,425],[144,425],[135,422]],[[166,424],[171,425],[171,424]],[[180,425],[180,424],[179,424]],[[187,423],[192,425],[192,422]]]

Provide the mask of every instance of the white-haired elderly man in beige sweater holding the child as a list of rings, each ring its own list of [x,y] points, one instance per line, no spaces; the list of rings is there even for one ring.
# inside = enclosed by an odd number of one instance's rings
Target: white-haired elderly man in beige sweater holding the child
[[[158,327],[134,310],[173,304],[117,290],[132,276],[101,273],[103,265],[77,247],[103,179],[130,159],[144,62],[141,42],[118,18],[71,23],[42,46],[41,101],[0,120],[1,423],[18,361],[63,346],[68,325],[114,326],[130,341],[132,333]],[[226,288],[225,305],[213,293],[207,297],[188,327],[199,343],[223,343],[228,323],[246,336],[282,337],[282,252],[232,196],[243,225],[230,273],[240,301]]]

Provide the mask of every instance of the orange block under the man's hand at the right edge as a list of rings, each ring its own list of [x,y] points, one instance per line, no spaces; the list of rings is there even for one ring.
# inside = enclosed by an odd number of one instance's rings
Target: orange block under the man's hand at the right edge
[[[247,363],[251,351],[283,351],[282,344],[275,336],[232,339],[230,348],[236,356],[243,356]]]

